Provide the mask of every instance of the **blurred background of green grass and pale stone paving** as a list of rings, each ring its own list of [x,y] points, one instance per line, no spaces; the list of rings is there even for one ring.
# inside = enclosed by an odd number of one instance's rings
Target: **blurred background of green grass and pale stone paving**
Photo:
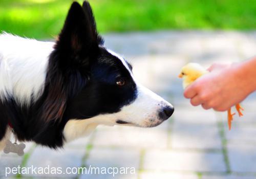
[[[79,1],[82,3],[82,1]],[[10,178],[255,179],[256,95],[228,131],[226,113],[193,107],[183,97],[188,62],[239,62],[255,55],[252,0],[91,0],[105,46],[134,66],[134,75],[175,106],[160,126],[99,126],[86,138],[50,150],[26,143],[26,154],[0,155],[5,167],[135,167],[135,174],[12,174]],[[53,40],[72,1],[0,0],[0,30]]]

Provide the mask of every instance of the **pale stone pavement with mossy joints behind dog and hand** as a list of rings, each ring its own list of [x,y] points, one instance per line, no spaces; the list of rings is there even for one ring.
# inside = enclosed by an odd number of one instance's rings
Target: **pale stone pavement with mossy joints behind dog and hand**
[[[23,174],[9,178],[256,178],[256,95],[244,102],[243,118],[227,130],[226,114],[193,107],[183,97],[182,65],[194,61],[240,61],[255,55],[256,32],[161,31],[105,35],[106,47],[134,65],[148,88],[175,106],[175,114],[155,128],[100,126],[91,136],[58,151],[27,143],[26,154],[1,154],[5,167],[135,167],[135,174]]]

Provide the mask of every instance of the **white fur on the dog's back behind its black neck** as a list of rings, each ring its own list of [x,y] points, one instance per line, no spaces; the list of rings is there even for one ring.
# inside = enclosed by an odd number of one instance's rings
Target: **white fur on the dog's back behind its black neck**
[[[21,105],[41,96],[53,42],[0,35],[0,98],[8,95]],[[33,99],[31,99],[33,97]]]

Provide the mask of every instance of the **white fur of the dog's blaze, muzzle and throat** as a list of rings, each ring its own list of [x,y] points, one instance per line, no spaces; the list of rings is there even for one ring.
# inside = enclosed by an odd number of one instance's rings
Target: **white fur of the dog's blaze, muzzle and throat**
[[[172,106],[150,89],[141,85],[133,76],[125,60],[115,52],[108,50],[109,53],[120,59],[125,68],[130,72],[137,86],[137,98],[131,104],[123,106],[118,113],[98,115],[84,120],[69,120],[66,124],[63,135],[67,142],[89,135],[99,124],[116,125],[117,120],[122,120],[130,126],[151,127],[162,122],[159,119],[159,110],[163,106]]]

